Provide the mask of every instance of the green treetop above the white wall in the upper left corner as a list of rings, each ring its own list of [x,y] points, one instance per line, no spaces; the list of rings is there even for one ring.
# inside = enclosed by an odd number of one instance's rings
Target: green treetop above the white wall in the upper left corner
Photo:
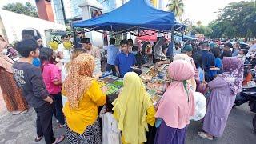
[[[2,9],[38,18],[38,10],[30,2],[26,2],[25,5],[20,2],[9,3],[6,6],[3,6]]]

